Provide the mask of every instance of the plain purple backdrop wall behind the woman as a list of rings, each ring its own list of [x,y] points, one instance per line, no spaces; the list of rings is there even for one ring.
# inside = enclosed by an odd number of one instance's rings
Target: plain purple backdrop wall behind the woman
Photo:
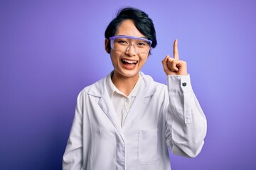
[[[158,46],[143,72],[165,83],[161,60],[179,40],[208,119],[195,159],[179,169],[256,169],[256,1],[0,2],[0,169],[61,169],[76,97],[112,71],[104,31],[118,8],[142,8]]]

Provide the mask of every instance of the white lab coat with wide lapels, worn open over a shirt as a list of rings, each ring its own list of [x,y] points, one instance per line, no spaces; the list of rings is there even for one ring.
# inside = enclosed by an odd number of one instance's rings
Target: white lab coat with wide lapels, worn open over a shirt
[[[142,84],[122,128],[107,77],[80,92],[63,169],[169,170],[168,147],[185,157],[201,151],[206,117],[189,75],[167,76],[166,86],[140,74]]]

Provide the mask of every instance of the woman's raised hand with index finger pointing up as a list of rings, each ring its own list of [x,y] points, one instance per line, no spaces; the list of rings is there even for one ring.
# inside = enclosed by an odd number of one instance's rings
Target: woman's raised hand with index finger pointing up
[[[178,58],[178,40],[174,40],[174,58],[166,55],[162,60],[166,75],[187,75],[186,62]]]

